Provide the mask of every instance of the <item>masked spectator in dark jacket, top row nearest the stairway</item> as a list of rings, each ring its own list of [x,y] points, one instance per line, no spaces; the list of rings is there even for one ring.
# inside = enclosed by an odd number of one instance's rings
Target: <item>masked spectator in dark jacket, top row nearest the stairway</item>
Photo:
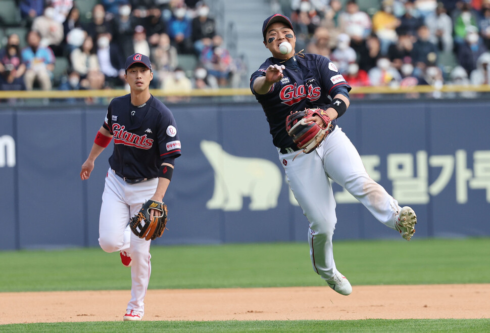
[[[209,7],[201,4],[197,9],[197,16],[192,19],[192,42],[194,52],[199,57],[206,45],[211,44],[216,35],[216,22],[209,17]]]

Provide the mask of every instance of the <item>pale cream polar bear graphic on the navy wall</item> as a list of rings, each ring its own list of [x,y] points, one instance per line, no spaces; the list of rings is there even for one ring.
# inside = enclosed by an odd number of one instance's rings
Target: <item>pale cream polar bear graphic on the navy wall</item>
[[[206,203],[208,209],[239,211],[243,197],[250,197],[250,210],[277,207],[282,176],[274,163],[230,155],[214,141],[201,141],[201,150],[214,170],[214,193]]]

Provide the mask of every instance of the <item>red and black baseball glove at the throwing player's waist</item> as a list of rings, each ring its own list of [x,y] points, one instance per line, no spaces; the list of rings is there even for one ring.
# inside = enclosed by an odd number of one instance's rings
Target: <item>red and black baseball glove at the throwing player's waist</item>
[[[323,127],[314,121],[306,121],[307,118],[311,118],[314,115],[318,115],[323,119]],[[317,149],[332,130],[332,121],[325,110],[322,109],[305,109],[304,111],[291,112],[286,117],[287,134],[292,137],[298,148],[302,149],[306,154]]]

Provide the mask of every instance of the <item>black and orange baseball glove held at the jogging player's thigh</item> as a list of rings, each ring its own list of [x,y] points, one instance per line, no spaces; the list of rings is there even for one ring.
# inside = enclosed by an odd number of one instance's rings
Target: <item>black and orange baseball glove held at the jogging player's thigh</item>
[[[161,213],[160,216],[153,216],[150,221],[150,209],[158,210]],[[148,200],[131,219],[129,227],[139,238],[144,238],[146,241],[154,240],[157,237],[161,237],[163,231],[165,231],[167,213],[167,205],[163,202]]]

